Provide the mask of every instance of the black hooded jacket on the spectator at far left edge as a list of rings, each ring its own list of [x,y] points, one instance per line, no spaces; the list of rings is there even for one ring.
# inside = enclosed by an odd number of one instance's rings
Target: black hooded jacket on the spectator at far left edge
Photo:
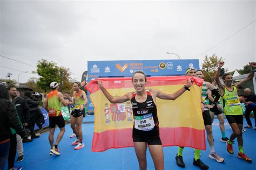
[[[0,141],[10,138],[10,128],[23,138],[25,132],[18,121],[18,114],[14,105],[9,101],[8,90],[2,84],[0,84],[0,106]]]

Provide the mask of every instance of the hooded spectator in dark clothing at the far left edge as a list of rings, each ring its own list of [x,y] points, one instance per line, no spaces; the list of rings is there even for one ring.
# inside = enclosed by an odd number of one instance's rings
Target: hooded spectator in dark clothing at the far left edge
[[[13,128],[22,138],[25,136],[25,132],[22,130],[22,125],[19,124],[18,114],[15,107],[8,99],[8,90],[5,86],[0,84],[0,169],[4,169],[9,155],[10,138],[12,137],[10,128]],[[14,161],[12,162],[14,164]],[[11,168],[13,167],[14,166]]]

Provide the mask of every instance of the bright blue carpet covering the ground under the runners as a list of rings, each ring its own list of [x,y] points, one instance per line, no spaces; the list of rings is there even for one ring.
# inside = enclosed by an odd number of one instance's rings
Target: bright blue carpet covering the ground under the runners
[[[94,116],[87,116],[84,122],[93,121]],[[244,119],[245,125],[247,125]],[[254,119],[252,119],[254,122]],[[25,159],[16,163],[16,166],[23,166],[23,169],[139,169],[138,161],[133,147],[110,149],[105,152],[91,152],[91,143],[94,124],[83,124],[83,137],[85,147],[81,150],[74,150],[71,142],[74,139],[69,138],[72,133],[70,125],[66,125],[66,132],[59,144],[61,155],[49,155],[50,145],[48,141],[48,132],[41,134],[41,137],[34,139],[31,143],[24,143]],[[255,141],[256,130],[247,129],[243,133],[244,136],[244,152],[253,162],[247,163],[237,158],[238,143],[235,141],[233,148],[234,154],[231,155],[226,151],[226,144],[220,141],[221,133],[219,130],[218,119],[214,119],[212,125],[214,136],[215,151],[225,159],[225,162],[219,163],[208,158],[210,148],[206,141],[207,150],[201,151],[200,159],[210,167],[210,169],[254,169],[256,168],[255,157]],[[232,130],[225,119],[225,128],[227,137],[230,136]],[[56,129],[55,139],[59,130]],[[176,165],[175,156],[178,147],[164,147],[165,169],[184,169]],[[193,166],[192,148],[186,147],[183,152],[183,159],[186,164],[185,169],[199,169]],[[153,161],[147,150],[147,169],[154,169]]]

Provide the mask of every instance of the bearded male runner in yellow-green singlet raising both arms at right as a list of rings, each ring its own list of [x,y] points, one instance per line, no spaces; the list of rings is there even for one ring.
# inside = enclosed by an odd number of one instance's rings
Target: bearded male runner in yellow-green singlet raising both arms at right
[[[252,160],[243,152],[243,139],[242,139],[242,124],[243,124],[243,117],[242,117],[242,107],[238,98],[237,94],[237,87],[241,84],[244,84],[250,81],[254,77],[254,72],[256,68],[256,62],[249,62],[249,65],[252,67],[251,73],[246,77],[246,79],[233,83],[233,77],[231,73],[226,73],[223,75],[224,85],[220,83],[219,74],[220,69],[224,65],[224,61],[220,61],[218,70],[216,72],[215,81],[220,90],[220,96],[222,97],[223,101],[223,111],[226,115],[228,123],[232,128],[233,133],[230,136],[230,140],[227,140],[227,151],[230,154],[234,154],[232,141],[237,138],[239,153],[237,154],[238,158],[241,158],[247,162],[252,162]]]

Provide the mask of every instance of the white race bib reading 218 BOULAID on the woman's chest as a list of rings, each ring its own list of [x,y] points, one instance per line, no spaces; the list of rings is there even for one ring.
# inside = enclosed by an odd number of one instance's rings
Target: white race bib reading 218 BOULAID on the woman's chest
[[[153,115],[134,116],[134,128],[142,131],[152,130],[154,128]]]

